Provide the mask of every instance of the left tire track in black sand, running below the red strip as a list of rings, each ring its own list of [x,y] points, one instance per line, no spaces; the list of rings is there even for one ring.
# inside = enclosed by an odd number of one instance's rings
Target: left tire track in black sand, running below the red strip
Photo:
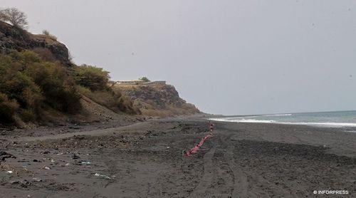
[[[206,192],[206,189],[208,189],[209,185],[211,185],[211,182],[213,180],[213,171],[214,171],[214,165],[213,165],[213,156],[215,153],[216,147],[212,147],[209,152],[206,152],[204,155],[204,174],[203,177],[201,177],[201,182],[199,185],[193,190],[191,194],[189,194],[189,197],[204,197],[204,194]]]

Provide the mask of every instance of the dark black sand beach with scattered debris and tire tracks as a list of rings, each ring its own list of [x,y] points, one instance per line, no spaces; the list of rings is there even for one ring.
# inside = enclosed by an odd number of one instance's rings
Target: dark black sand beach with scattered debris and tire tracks
[[[206,120],[105,125],[1,132],[0,150],[16,159],[1,162],[0,197],[356,196],[356,133],[345,129],[216,123],[214,137],[182,157]]]

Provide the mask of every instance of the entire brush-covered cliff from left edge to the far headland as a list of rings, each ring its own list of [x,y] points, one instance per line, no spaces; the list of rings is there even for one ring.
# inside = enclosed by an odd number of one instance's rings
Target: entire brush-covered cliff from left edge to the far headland
[[[199,110],[172,85],[110,88],[109,72],[70,62],[55,36],[0,21],[0,125],[135,120]]]

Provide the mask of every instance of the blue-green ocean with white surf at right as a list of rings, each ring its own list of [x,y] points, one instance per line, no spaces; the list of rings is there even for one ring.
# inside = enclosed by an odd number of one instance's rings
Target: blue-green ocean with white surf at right
[[[356,110],[269,115],[236,115],[209,118],[209,120],[236,123],[276,123],[324,127],[356,127]]]

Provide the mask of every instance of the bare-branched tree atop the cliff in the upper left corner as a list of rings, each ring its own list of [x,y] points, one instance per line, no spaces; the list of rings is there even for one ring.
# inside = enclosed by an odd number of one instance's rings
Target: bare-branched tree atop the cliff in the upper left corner
[[[22,29],[26,29],[28,25],[26,14],[16,8],[0,10],[0,21],[9,22],[13,26]]]

